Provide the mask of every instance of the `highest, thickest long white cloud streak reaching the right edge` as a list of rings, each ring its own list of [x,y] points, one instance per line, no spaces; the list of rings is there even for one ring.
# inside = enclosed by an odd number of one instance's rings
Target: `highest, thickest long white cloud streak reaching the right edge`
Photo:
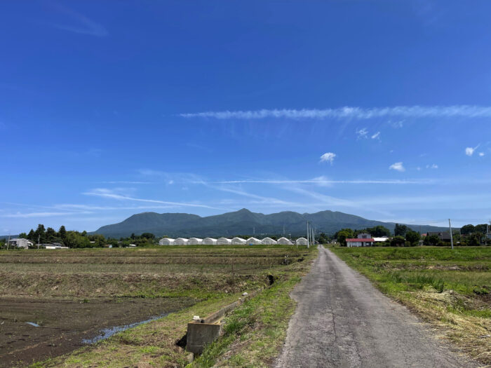
[[[262,119],[262,118],[356,118],[370,119],[382,117],[400,118],[445,118],[464,117],[479,118],[491,117],[491,107],[454,105],[454,106],[396,106],[374,107],[341,107],[339,109],[261,109],[248,111],[205,111],[197,113],[179,114],[184,118],[217,118],[217,119]],[[402,126],[402,122],[396,125]],[[393,125],[396,128],[396,125]],[[397,126],[397,127],[400,127]]]

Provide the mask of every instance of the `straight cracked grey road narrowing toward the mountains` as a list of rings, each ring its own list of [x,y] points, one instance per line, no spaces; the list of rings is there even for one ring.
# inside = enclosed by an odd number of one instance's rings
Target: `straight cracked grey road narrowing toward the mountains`
[[[292,297],[276,367],[477,367],[324,248]]]

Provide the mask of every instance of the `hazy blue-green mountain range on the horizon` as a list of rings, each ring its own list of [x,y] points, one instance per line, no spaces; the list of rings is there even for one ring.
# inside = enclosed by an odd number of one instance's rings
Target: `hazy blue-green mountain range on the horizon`
[[[102,226],[92,234],[106,237],[128,237],[132,233],[153,233],[156,236],[170,237],[220,237],[237,234],[271,235],[284,234],[304,236],[307,221],[317,233],[334,234],[340,229],[365,229],[374,226],[385,226],[394,232],[395,223],[379,222],[343,212],[321,211],[316,213],[278,212],[262,214],[250,212],[243,208],[236,212],[227,212],[215,216],[200,217],[197,214],[143,212],[133,214],[119,224]],[[426,233],[443,231],[446,228],[427,225],[408,225],[410,229]]]

